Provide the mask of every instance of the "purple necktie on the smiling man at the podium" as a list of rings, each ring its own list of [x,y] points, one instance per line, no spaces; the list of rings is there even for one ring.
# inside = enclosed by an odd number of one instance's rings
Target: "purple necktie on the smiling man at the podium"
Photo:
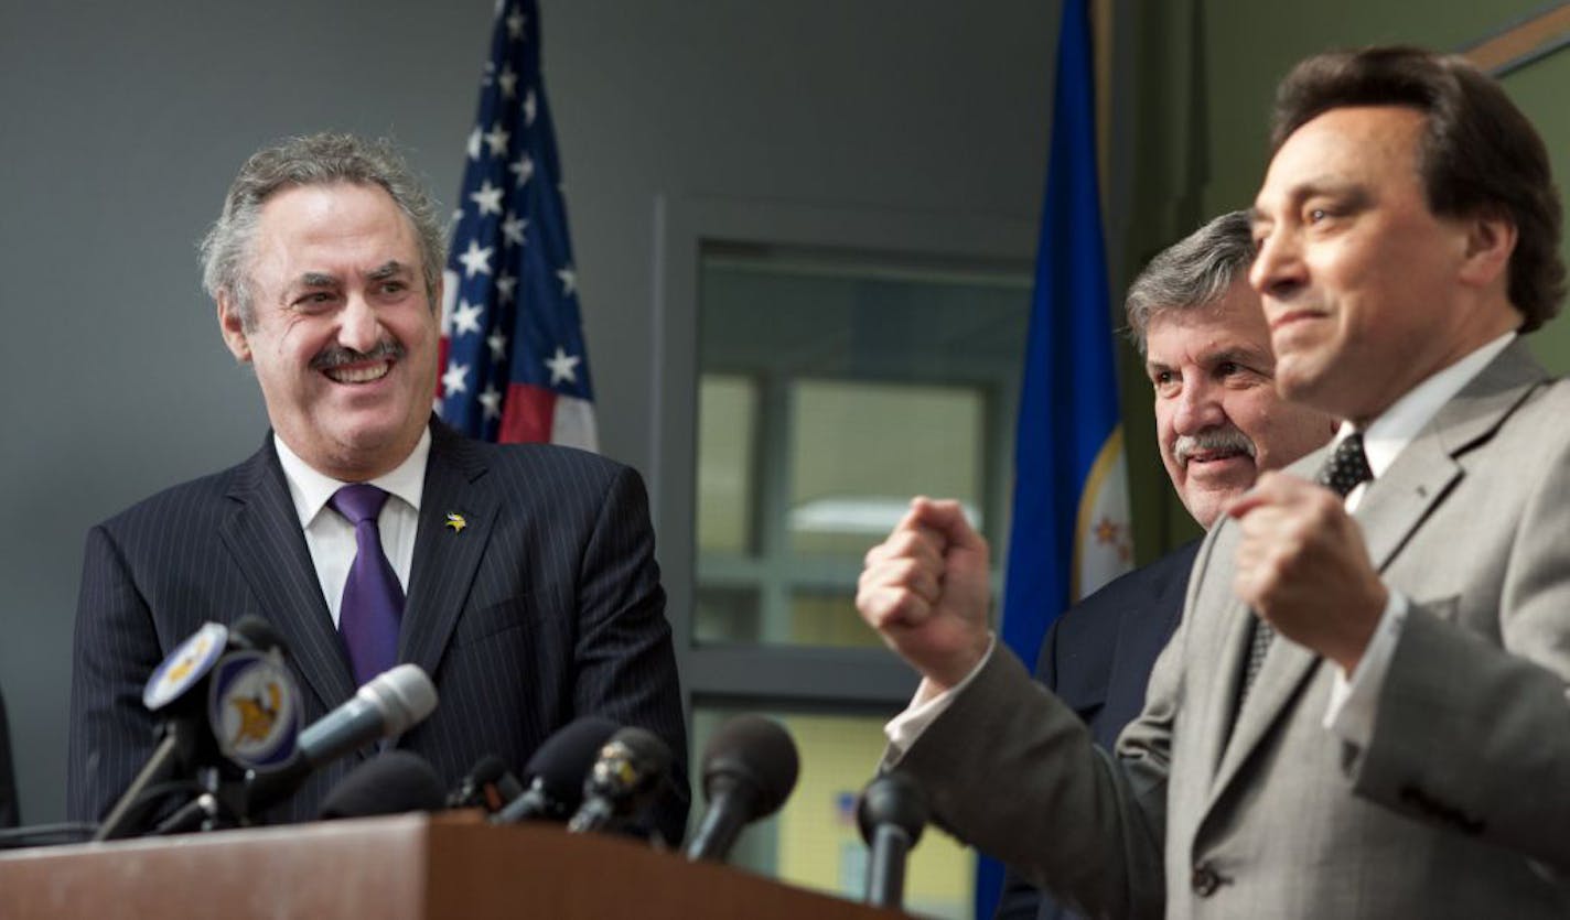
[[[349,647],[355,683],[364,685],[397,664],[397,623],[403,617],[403,587],[382,551],[377,515],[388,493],[369,484],[345,485],[327,504],[355,524],[355,564],[344,582],[338,631]]]

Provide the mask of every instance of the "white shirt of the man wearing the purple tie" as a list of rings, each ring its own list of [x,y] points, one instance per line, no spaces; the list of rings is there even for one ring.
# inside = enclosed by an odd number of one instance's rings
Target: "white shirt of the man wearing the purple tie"
[[[295,513],[300,515],[300,529],[305,531],[305,545],[311,551],[311,564],[316,565],[316,578],[322,582],[322,597],[327,600],[327,611],[333,615],[333,626],[338,626],[338,609],[344,601],[344,582],[349,581],[349,568],[355,564],[355,526],[344,515],[327,506],[327,499],[339,488],[350,485],[331,476],[323,476],[306,465],[283,438],[273,435],[273,447],[278,449],[278,463],[284,468],[284,479],[289,482],[289,498],[294,499]],[[430,457],[430,429],[419,436],[414,451],[386,476],[371,480],[388,491],[388,501],[377,517],[377,529],[382,532],[382,551],[386,553],[392,571],[397,573],[399,586],[408,593],[408,573],[414,565],[414,531],[419,526],[419,498],[425,488],[425,460]]]

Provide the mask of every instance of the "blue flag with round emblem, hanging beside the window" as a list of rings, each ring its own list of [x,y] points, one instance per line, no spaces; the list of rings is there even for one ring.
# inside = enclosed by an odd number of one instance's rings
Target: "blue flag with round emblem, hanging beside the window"
[[[1002,639],[1035,666],[1064,608],[1127,571],[1127,465],[1096,181],[1096,93],[1086,0],[1063,5],[1047,195],[1014,441],[1014,515]],[[1002,868],[977,870],[991,917]]]

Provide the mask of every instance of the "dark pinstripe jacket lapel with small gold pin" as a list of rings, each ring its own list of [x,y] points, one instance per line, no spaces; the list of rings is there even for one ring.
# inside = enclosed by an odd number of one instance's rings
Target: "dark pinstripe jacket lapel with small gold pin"
[[[440,422],[432,425],[414,565],[399,636],[399,661],[418,664],[430,675],[436,674],[452,637],[496,521],[499,502],[485,487],[485,469],[473,444]]]

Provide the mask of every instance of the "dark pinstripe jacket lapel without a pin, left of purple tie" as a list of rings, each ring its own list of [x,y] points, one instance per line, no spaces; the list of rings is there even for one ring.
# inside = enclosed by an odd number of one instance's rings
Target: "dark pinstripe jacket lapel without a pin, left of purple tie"
[[[220,535],[236,567],[323,708],[355,692],[349,655],[322,600],[322,582],[305,545],[273,440],[256,452],[229,490],[236,502]]]

